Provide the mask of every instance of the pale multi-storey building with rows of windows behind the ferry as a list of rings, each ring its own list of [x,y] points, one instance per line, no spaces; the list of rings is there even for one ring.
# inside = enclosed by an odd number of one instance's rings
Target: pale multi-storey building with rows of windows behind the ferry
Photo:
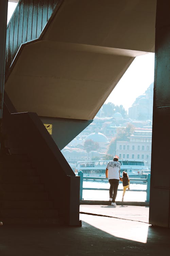
[[[119,159],[144,160],[151,169],[152,131],[135,131],[129,141],[117,141],[116,155]]]

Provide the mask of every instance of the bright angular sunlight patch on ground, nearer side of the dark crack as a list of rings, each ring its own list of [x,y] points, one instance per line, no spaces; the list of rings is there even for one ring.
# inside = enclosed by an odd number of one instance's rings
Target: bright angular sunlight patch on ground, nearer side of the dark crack
[[[87,214],[80,214],[80,219],[112,236],[141,243],[147,242],[149,224]]]

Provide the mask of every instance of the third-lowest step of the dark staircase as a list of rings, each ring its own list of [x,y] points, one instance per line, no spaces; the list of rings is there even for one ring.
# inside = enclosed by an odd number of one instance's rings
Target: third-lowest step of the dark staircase
[[[0,201],[0,209],[53,209],[51,200],[32,201]]]

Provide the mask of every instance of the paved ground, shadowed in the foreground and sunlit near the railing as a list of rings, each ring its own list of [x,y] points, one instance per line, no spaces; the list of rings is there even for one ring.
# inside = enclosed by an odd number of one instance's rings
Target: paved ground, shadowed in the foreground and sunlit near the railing
[[[151,227],[147,223],[148,207],[81,205],[80,211],[86,213],[80,214],[82,227],[3,224],[0,226],[0,255],[167,256],[170,254],[170,229]]]

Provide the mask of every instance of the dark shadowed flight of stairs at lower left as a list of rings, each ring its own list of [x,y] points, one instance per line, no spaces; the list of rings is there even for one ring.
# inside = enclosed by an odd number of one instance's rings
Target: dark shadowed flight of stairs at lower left
[[[0,221],[61,224],[58,210],[25,154],[0,157]]]

